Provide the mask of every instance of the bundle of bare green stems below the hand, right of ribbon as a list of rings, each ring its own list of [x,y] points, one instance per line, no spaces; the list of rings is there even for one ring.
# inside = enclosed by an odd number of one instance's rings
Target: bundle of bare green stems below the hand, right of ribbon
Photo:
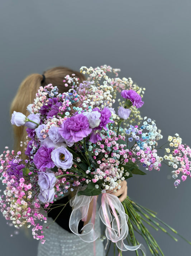
[[[132,244],[133,246],[139,244],[139,242],[134,234],[134,232],[137,232],[144,238],[144,240],[149,248],[149,251],[151,252],[152,255],[164,256],[164,254],[163,254],[161,248],[159,247],[159,245],[157,244],[156,240],[153,238],[153,236],[151,235],[149,230],[145,227],[145,225],[144,225],[145,223],[147,223],[149,226],[151,226],[155,230],[162,230],[162,232],[168,234],[175,241],[178,241],[177,238],[175,238],[173,235],[171,235],[168,231],[180,236],[187,243],[191,244],[191,242],[189,242],[187,239],[185,239],[180,234],[178,234],[178,232],[175,229],[171,228],[168,224],[166,224],[162,220],[160,220],[156,216],[156,212],[153,212],[153,211],[139,205],[138,203],[135,203],[128,196],[122,203],[123,203],[123,206],[125,209],[125,213],[128,215],[129,234],[126,239],[129,244]],[[163,224],[168,231],[165,228],[163,228],[161,226],[161,224]],[[142,253],[142,251],[140,251],[140,250],[135,251],[137,256],[139,255],[140,252]],[[121,254],[121,252],[120,252],[120,254]]]

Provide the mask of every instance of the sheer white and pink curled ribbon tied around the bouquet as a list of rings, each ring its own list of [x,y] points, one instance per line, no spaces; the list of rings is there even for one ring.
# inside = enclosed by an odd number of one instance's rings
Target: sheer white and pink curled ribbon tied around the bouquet
[[[82,228],[82,234],[78,233],[78,224],[80,220],[87,220],[89,205],[94,197],[95,196],[77,196],[76,194],[70,201],[70,205],[73,207],[69,221],[70,229],[85,242],[93,242],[98,238],[94,231],[94,223],[86,224]],[[96,200],[94,200],[94,202],[96,203]],[[95,218],[95,203],[92,212],[93,219]],[[125,214],[124,207],[118,197],[109,193],[103,193],[99,216],[106,226],[106,237],[116,243],[116,246],[121,251],[135,251],[140,249],[142,250],[143,255],[146,256],[145,248],[142,244],[138,244],[137,246],[128,246],[124,244],[123,240],[127,237],[129,232],[127,224],[128,216]]]

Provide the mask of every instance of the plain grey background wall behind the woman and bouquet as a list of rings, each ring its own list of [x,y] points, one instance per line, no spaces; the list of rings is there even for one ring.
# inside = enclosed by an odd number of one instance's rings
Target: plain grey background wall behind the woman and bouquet
[[[142,115],[156,120],[164,140],[179,133],[191,145],[190,0],[2,0],[0,6],[0,152],[13,144],[9,106],[20,82],[59,65],[121,68],[120,77],[146,87]],[[169,175],[163,166],[129,179],[128,194],[191,240],[191,180],[175,189]],[[0,227],[1,256],[37,254],[31,235],[10,237],[14,229],[2,214]],[[165,256],[190,255],[183,240],[153,235]]]

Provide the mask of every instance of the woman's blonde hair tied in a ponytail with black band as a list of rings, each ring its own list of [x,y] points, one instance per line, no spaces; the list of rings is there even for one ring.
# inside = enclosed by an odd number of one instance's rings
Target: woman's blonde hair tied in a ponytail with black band
[[[73,73],[80,79],[79,82],[85,80],[85,76],[83,76],[80,72],[73,71],[67,67],[54,67],[48,69],[43,73],[45,80],[43,79],[43,75],[40,74],[31,74],[27,76],[20,84],[15,98],[11,103],[10,113],[12,114],[13,111],[16,111],[25,114],[25,116],[28,116],[29,113],[27,111],[27,106],[28,104],[34,102],[35,95],[40,86],[52,84],[53,86],[58,87],[59,93],[63,93],[68,90],[68,87],[65,87],[63,84],[63,79],[66,75],[72,75]],[[24,154],[25,146],[23,145],[23,147],[20,147],[20,142],[26,141],[27,132],[25,128],[26,127],[24,126],[13,126],[15,138],[14,149],[16,152],[21,151],[22,154]]]

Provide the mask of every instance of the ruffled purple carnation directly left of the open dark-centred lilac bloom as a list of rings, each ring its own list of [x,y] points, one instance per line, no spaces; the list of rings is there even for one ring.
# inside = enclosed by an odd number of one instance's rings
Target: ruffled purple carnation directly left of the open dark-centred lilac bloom
[[[46,148],[44,145],[37,150],[37,153],[34,155],[34,164],[40,169],[44,170],[44,168],[53,168],[55,164],[51,159],[51,152],[54,148]]]

